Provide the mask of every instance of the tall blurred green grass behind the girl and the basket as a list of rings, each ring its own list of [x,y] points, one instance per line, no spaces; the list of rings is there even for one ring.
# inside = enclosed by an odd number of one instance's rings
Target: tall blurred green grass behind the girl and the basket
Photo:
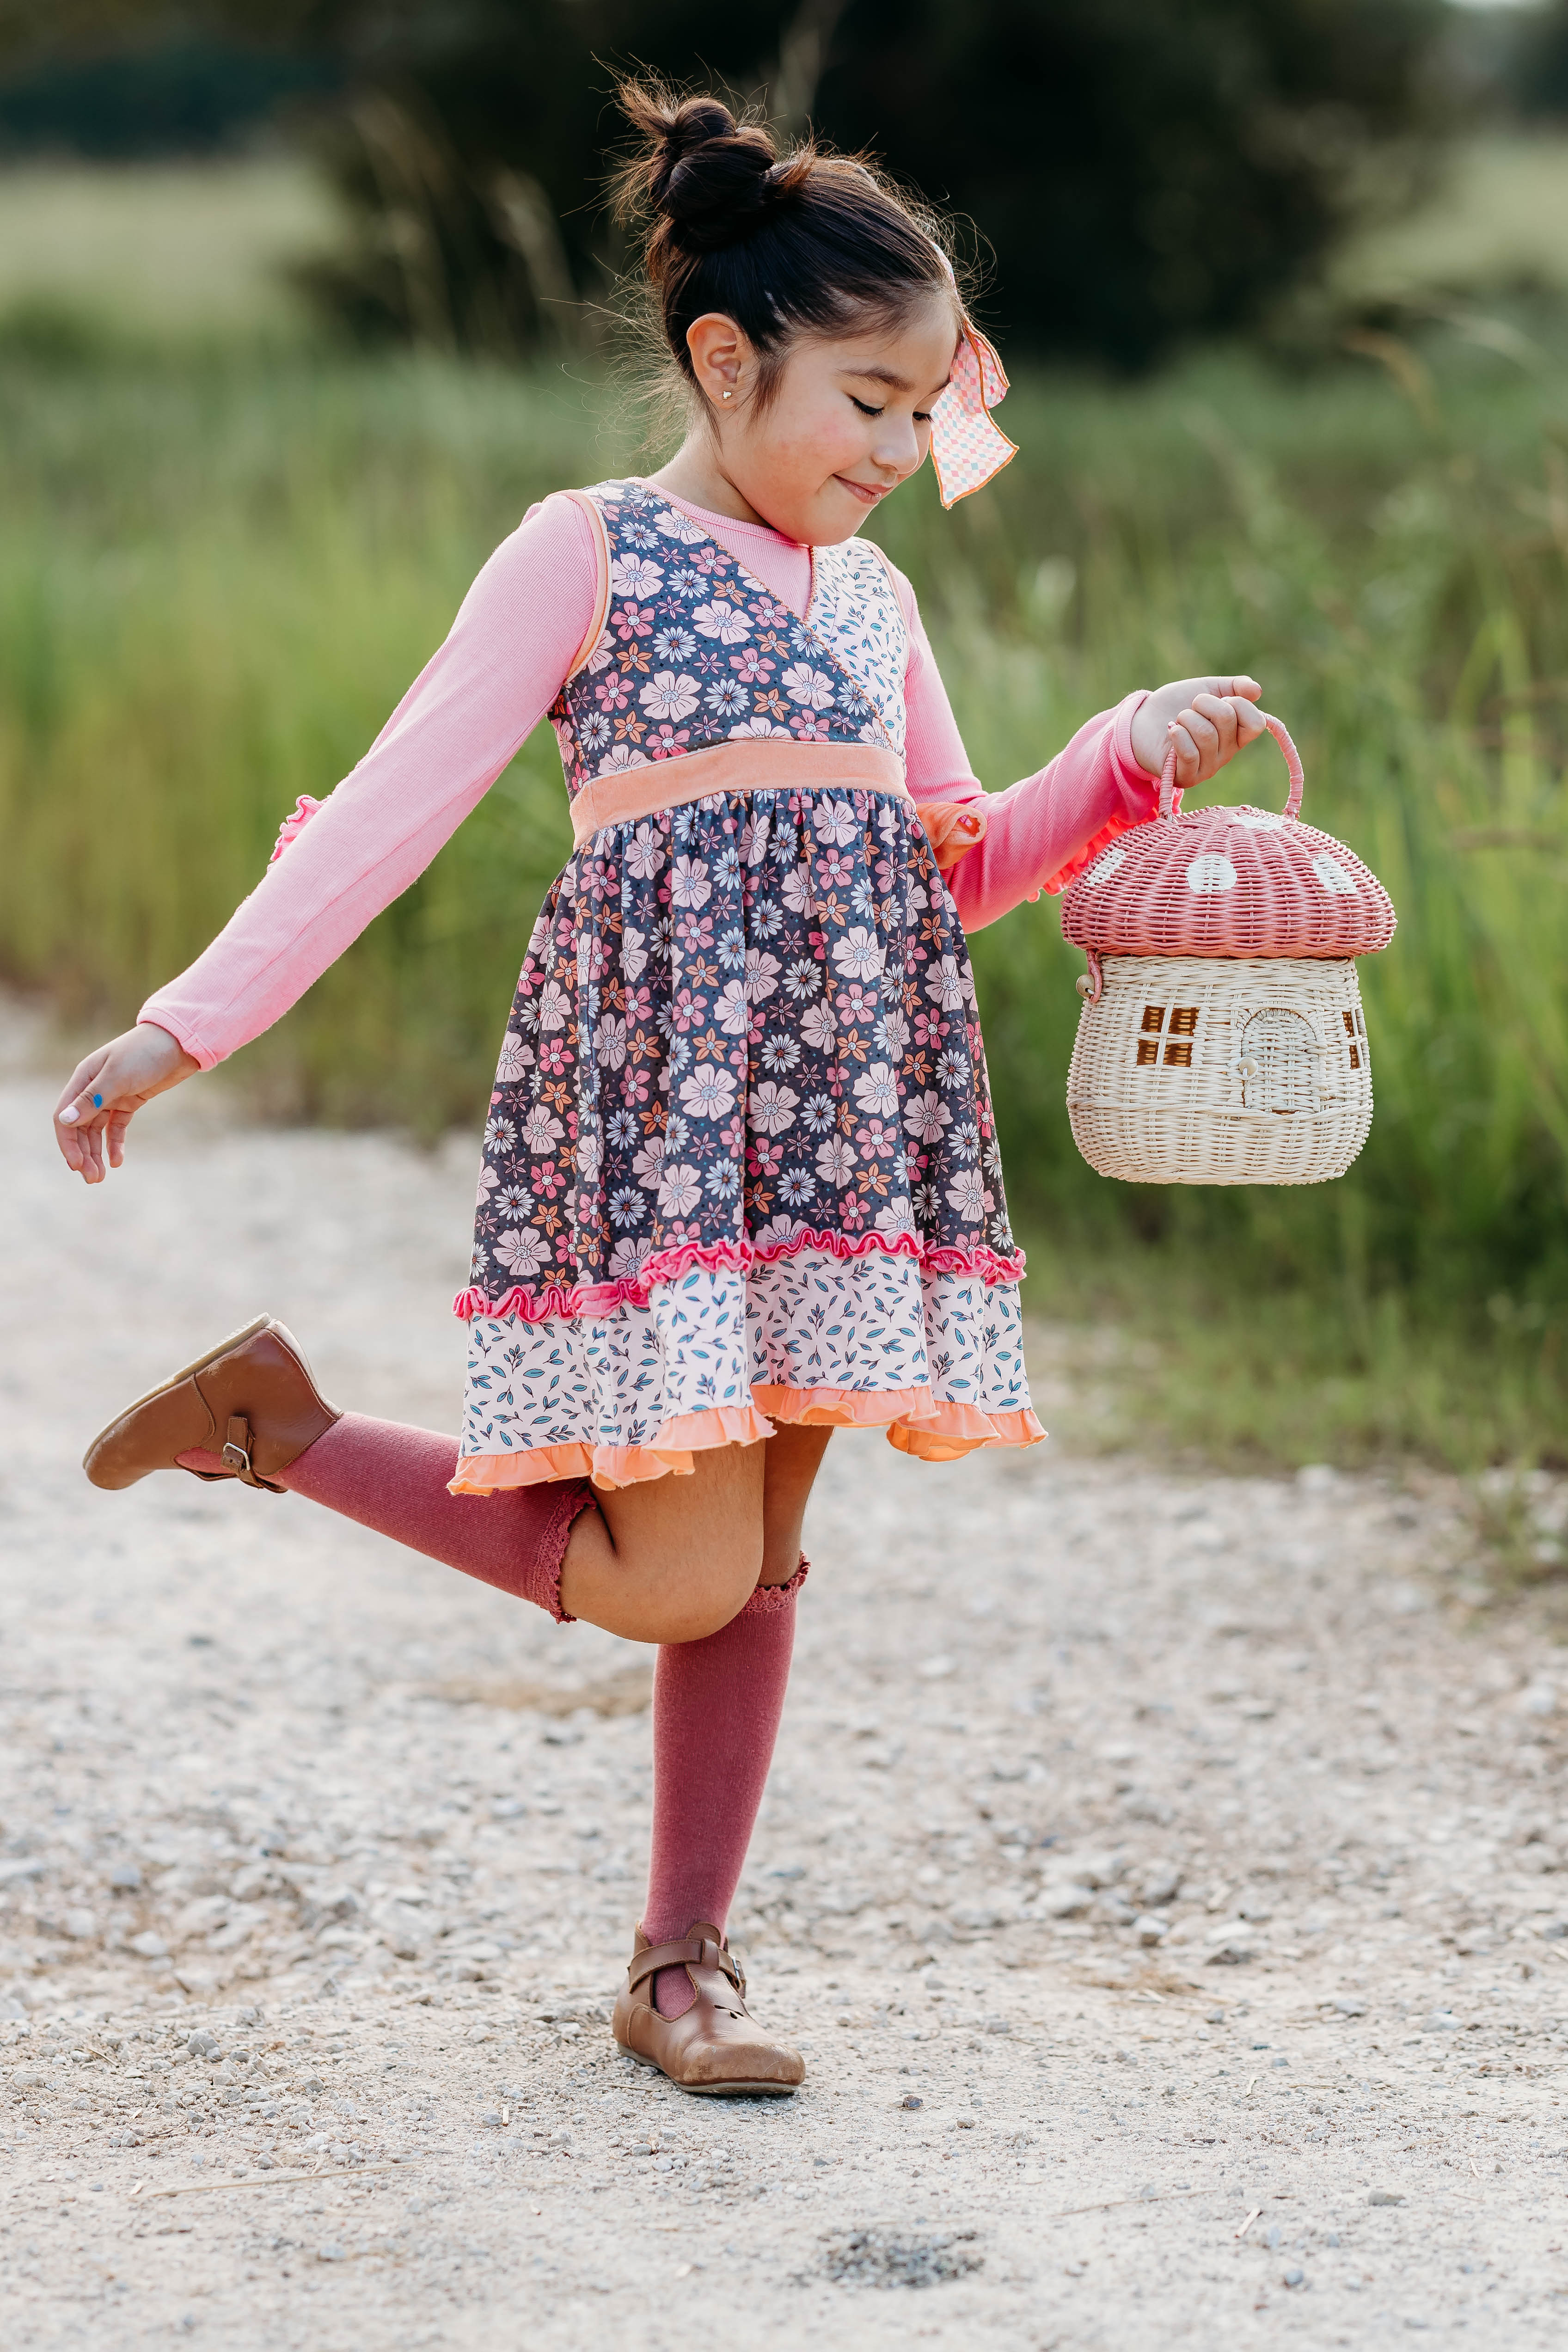
[[[1373,1136],[1307,1190],[1095,1178],[1053,903],[976,941],[1027,1298],[1128,1334],[1119,1430],[1229,1458],[1566,1451],[1568,393],[1460,341],[1420,365],[1420,412],[1363,360],[1030,381],[997,489],[943,515],[919,482],[879,524],[990,786],[1131,684],[1251,668],[1309,816],[1399,908],[1363,967]],[[360,757],[529,499],[628,459],[614,416],[564,372],[0,336],[5,971],[75,1025],[134,1016],[294,795]],[[1281,790],[1255,748],[1218,797]],[[473,1122],[562,802],[543,731],[240,1058],[256,1103]]]

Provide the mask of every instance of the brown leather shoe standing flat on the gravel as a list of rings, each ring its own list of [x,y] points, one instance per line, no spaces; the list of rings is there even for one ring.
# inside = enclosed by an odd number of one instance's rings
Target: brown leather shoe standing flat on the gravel
[[[682,1969],[696,2002],[679,2018],[661,2018],[654,1978]],[[806,2060],[757,2032],[745,2006],[741,1964],[717,1926],[698,1919],[684,1943],[658,1943],[637,1929],[611,2030],[623,2051],[656,2065],[682,2091],[708,2098],[788,2098],[806,2079]]]

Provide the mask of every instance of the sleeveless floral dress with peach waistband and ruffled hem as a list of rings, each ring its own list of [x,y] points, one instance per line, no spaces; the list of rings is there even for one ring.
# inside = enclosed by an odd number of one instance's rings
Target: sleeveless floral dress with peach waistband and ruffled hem
[[[818,548],[799,619],[654,487],[576,496],[607,595],[550,710],[567,790],[672,804],[581,840],[529,938],[456,1301],[454,1491],[621,1486],[778,1421],[929,1461],[1030,1444],[964,931],[907,793],[830,781],[835,746],[900,774],[889,569]],[[719,746],[724,788],[691,797]],[[790,750],[769,783],[778,746],[823,746],[825,781]]]

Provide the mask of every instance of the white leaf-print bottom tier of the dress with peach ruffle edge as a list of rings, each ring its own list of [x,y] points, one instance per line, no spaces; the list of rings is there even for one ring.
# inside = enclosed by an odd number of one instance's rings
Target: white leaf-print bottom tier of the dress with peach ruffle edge
[[[1034,1444],[1016,1284],[802,1249],[602,1317],[475,1315],[451,1491],[630,1486],[778,1421],[886,1428],[924,1461]]]

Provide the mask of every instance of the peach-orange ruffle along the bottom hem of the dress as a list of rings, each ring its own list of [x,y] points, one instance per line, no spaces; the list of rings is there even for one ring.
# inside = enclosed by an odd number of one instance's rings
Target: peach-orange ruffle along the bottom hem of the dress
[[[889,1444],[926,1463],[952,1463],[980,1446],[1037,1446],[1046,1435],[1034,1414],[983,1414],[976,1404],[938,1404],[929,1388],[776,1388],[762,1383],[752,1404],[677,1414],[646,1446],[531,1446],[520,1454],[463,1454],[451,1494],[496,1494],[588,1477],[595,1486],[639,1486],[654,1477],[691,1477],[691,1456],[712,1446],[752,1446],[773,1421],[809,1428],[886,1428]]]

